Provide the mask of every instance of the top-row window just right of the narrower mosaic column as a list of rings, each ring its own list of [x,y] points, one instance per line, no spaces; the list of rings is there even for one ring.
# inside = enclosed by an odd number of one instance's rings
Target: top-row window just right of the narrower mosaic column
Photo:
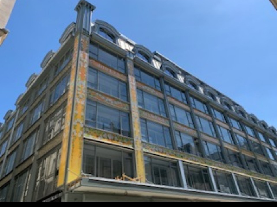
[[[145,83],[146,85],[151,86],[159,91],[161,91],[160,80],[154,75],[150,75],[147,72],[144,72],[141,68],[135,67],[135,76],[136,81]]]

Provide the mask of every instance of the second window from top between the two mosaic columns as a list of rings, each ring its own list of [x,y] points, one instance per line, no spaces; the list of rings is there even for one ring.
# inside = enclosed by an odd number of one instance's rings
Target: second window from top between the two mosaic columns
[[[117,97],[122,101],[128,101],[127,84],[89,68],[88,87],[99,90],[108,95]]]

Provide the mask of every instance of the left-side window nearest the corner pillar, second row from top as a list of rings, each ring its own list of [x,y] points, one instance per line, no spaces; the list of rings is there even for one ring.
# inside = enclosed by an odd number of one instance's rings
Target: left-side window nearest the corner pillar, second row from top
[[[57,84],[50,95],[50,105],[54,104],[68,89],[70,76],[66,75]]]

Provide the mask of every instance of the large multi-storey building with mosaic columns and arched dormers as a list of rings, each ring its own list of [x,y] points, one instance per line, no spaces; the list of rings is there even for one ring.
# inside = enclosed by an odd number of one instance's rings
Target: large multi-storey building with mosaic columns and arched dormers
[[[276,129],[94,9],[4,117],[0,201],[276,201]]]

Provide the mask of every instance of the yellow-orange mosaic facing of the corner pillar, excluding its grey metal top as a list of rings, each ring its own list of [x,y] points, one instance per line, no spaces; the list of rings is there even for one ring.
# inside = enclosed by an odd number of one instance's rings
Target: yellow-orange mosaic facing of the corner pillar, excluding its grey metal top
[[[81,42],[79,42],[79,39],[80,39],[79,35],[80,34],[76,35],[75,43],[74,43],[70,87],[68,91],[68,102],[67,102],[66,116],[65,116],[65,129],[63,132],[61,163],[60,163],[59,177],[58,177],[58,184],[57,184],[58,187],[62,186],[64,182],[68,184],[81,177],[86,88],[87,88],[87,69],[89,65],[89,37],[82,35]],[[79,44],[81,48],[80,51],[79,51]],[[78,62],[78,66],[77,66],[77,62]],[[77,71],[77,74],[76,74],[76,71]],[[76,75],[77,75],[77,79],[75,83]],[[74,91],[75,89],[76,91]],[[75,99],[74,99],[74,93],[75,93]],[[70,124],[71,121],[73,123],[72,126]],[[69,157],[67,158],[68,144],[70,140],[69,137],[71,137],[71,143],[70,143],[70,149],[69,149],[70,150]],[[68,169],[66,169],[67,162],[68,162]],[[68,170],[67,178],[65,178],[65,170]]]

